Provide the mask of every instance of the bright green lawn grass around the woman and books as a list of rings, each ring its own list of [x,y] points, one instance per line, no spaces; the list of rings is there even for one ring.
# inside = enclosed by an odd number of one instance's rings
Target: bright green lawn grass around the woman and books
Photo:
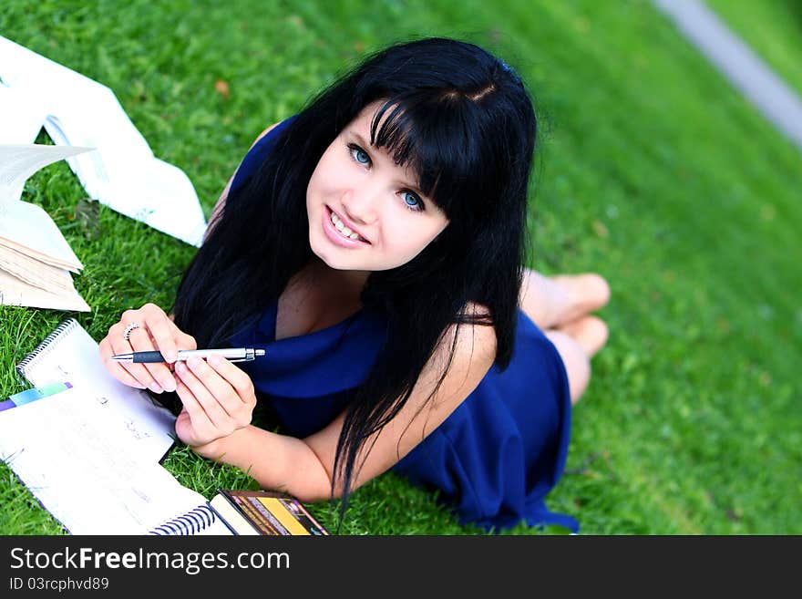
[[[530,264],[612,284],[610,343],[550,507],[588,534],[802,532],[800,155],[650,3],[85,4],[3,3],[0,35],[112,88],[207,214],[252,139],[364,50],[448,35],[505,57],[542,124]],[[763,26],[798,54],[783,23]],[[86,264],[76,284],[94,311],[77,318],[100,339],[128,307],[169,306],[193,249],[83,198],[63,162],[26,186]],[[67,315],[0,307],[0,397],[25,387],[15,362]],[[253,484],[183,448],[166,465],[207,497]],[[59,531],[0,477],[0,532]],[[334,526],[326,504],[313,511]],[[341,532],[479,531],[385,475]]]

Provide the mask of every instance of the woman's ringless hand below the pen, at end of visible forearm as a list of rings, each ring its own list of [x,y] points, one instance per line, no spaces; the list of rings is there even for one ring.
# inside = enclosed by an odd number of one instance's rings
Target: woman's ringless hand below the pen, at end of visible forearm
[[[251,378],[221,356],[176,362],[176,392],[183,403],[176,433],[205,455],[203,446],[251,424],[256,395]]]

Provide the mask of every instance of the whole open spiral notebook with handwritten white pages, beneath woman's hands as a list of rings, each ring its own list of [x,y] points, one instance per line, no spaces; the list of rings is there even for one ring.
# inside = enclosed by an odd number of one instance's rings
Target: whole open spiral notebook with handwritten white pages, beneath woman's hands
[[[175,417],[111,377],[75,319],[16,371],[36,387],[69,383],[0,412],[0,459],[67,532],[232,534],[200,493],[159,464]]]

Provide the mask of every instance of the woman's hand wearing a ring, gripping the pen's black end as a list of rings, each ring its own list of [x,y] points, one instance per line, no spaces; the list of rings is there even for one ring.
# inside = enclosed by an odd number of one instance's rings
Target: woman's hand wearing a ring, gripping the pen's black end
[[[135,326],[137,325],[137,326]],[[126,330],[129,338],[125,338]],[[126,310],[108,335],[100,342],[103,365],[111,375],[129,387],[149,388],[154,393],[174,391],[176,380],[171,372],[179,349],[197,349],[195,338],[176,326],[158,305],[146,304],[139,310]],[[167,363],[132,364],[113,362],[115,354],[159,350]]]

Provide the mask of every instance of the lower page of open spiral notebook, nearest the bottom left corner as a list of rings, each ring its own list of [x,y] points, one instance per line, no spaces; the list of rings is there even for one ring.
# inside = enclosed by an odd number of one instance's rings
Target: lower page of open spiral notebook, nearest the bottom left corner
[[[0,458],[72,534],[147,534],[206,504],[84,387],[0,412]]]

